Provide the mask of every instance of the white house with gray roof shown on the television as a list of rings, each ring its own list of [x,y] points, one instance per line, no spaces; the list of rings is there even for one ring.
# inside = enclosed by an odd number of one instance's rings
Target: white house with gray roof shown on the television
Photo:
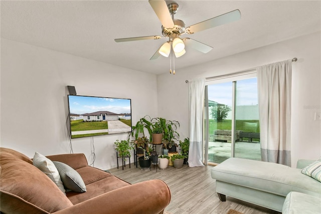
[[[99,111],[83,114],[84,121],[117,121],[119,119],[130,120],[130,114],[116,114],[108,111]]]

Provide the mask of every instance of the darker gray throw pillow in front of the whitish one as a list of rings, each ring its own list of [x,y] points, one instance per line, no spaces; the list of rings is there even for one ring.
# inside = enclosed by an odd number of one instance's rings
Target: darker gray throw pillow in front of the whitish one
[[[86,192],[86,185],[80,174],[65,163],[53,161],[58,169],[62,183],[67,189],[75,192]]]

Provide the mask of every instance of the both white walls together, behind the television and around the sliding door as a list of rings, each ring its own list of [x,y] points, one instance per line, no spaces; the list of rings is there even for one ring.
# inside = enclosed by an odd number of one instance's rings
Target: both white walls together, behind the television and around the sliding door
[[[1,146],[33,157],[69,153],[66,119],[68,89],[77,94],[132,99],[132,121],[150,115],[181,123],[181,139],[189,136],[188,90],[185,80],[211,77],[297,57],[292,75],[292,166],[298,158],[321,156],[320,33],[272,44],[209,63],[176,70],[176,75],[147,74],[6,39],[1,41]],[[215,51],[215,48],[212,50]],[[106,79],[114,79],[109,84]],[[144,84],[135,84],[136,82]],[[148,97],[148,98],[146,98]],[[51,120],[48,118],[51,117]],[[95,166],[116,165],[113,142],[127,134],[73,139],[75,153]],[[93,141],[92,141],[93,139]]]

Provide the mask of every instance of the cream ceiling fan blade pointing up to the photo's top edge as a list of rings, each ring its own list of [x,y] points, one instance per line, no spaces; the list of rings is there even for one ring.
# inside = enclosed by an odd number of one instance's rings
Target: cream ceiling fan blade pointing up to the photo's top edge
[[[149,0],[148,2],[162,25],[165,28],[173,28],[174,22],[166,2],[163,0]]]

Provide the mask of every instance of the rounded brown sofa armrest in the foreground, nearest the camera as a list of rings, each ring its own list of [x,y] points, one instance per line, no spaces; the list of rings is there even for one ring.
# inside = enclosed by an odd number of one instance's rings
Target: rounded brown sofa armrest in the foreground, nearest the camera
[[[160,213],[171,201],[171,192],[162,180],[148,180],[112,190],[74,206],[62,213]]]

